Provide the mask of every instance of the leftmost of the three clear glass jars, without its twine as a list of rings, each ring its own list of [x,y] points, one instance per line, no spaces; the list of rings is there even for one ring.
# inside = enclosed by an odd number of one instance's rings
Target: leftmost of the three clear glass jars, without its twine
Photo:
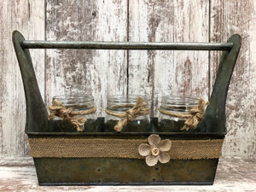
[[[73,112],[83,112],[96,107],[93,96],[54,96],[52,103],[54,104],[55,99],[61,102],[62,105],[67,109],[72,109]],[[100,127],[97,123],[96,113],[79,114],[73,116],[75,119],[85,118],[87,121],[81,123],[81,130],[83,132],[95,132],[100,131]],[[68,120],[62,119],[61,117],[54,116],[55,120],[55,131],[62,132],[76,132],[78,131],[77,126]]]

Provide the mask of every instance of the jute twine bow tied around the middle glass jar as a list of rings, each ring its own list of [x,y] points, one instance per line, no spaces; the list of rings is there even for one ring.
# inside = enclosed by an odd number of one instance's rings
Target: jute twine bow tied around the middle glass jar
[[[128,104],[127,107],[130,105]],[[136,104],[129,110],[125,111],[125,113],[114,113],[112,111],[109,111],[106,108],[106,113],[113,115],[115,117],[122,118],[119,120],[118,124],[113,127],[115,131],[122,131],[123,127],[127,125],[128,122],[134,121],[138,116],[146,115],[149,113],[150,108],[145,108],[147,106],[147,103],[144,102],[142,96],[137,97]],[[125,107],[124,105],[120,107]]]

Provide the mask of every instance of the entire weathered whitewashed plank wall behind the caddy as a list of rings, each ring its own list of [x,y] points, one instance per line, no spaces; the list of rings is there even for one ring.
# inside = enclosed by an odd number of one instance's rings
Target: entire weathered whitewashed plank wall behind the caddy
[[[2,0],[0,3],[0,154],[28,155],[26,104],[11,42],[26,39],[225,42],[242,46],[226,105],[224,156],[256,157],[256,3],[253,0]],[[143,94],[157,115],[164,94],[204,96],[212,90],[220,52],[32,50],[47,104],[59,94],[95,96],[104,116],[108,94]]]

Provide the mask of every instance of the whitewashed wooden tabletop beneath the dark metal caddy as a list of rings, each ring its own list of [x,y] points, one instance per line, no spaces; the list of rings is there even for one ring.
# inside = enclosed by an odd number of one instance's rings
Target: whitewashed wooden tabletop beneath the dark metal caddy
[[[0,191],[255,191],[255,160],[220,159],[213,185],[209,186],[38,186],[32,158],[10,159],[1,157]],[[20,162],[20,166],[19,163]],[[11,166],[13,165],[13,166]]]

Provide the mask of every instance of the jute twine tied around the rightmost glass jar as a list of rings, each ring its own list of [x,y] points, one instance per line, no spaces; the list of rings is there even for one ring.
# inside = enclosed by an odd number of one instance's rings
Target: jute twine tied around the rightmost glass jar
[[[198,105],[195,108],[191,108],[189,111],[189,114],[182,114],[182,113],[172,113],[169,111],[166,111],[162,108],[159,108],[160,113],[177,117],[177,118],[183,118],[186,119],[183,128],[181,130],[189,131],[189,128],[195,129],[198,125],[199,121],[203,119],[205,108],[209,104],[209,102],[205,102],[205,100],[201,97],[199,100]]]

